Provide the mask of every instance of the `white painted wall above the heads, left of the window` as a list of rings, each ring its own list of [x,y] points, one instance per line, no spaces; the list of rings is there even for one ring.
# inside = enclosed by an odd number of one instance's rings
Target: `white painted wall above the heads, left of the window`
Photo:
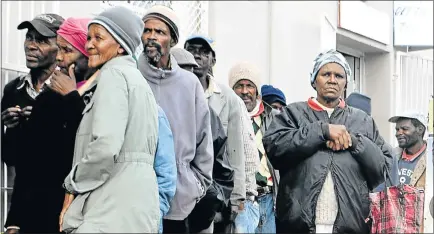
[[[336,25],[337,1],[210,2],[216,78],[227,83],[230,67],[248,60],[259,67],[264,83],[282,89],[288,103],[306,100],[315,94],[309,74],[321,51],[324,14]]]

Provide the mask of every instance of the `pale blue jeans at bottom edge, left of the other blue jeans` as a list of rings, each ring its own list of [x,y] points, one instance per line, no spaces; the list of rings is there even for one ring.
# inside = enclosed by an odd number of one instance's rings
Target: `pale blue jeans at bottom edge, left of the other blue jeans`
[[[247,200],[244,210],[235,218],[236,233],[255,233],[259,223],[259,205],[257,202]]]

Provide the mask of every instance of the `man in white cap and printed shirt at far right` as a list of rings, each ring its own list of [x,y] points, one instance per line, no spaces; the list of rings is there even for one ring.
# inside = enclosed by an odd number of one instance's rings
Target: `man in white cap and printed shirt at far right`
[[[425,188],[426,178],[426,120],[424,114],[411,110],[389,119],[396,124],[399,148],[394,156],[398,158],[399,182],[421,188]]]

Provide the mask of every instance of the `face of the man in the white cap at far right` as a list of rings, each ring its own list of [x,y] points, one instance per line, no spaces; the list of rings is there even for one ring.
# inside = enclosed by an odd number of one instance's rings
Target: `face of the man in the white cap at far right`
[[[398,145],[402,149],[410,148],[423,138],[422,127],[417,128],[412,123],[411,119],[401,118],[396,122],[395,136],[398,140]]]

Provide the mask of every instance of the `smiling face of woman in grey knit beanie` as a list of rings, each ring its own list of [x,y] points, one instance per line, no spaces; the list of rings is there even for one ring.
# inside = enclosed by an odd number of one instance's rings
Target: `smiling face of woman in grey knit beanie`
[[[88,65],[91,68],[101,67],[124,52],[112,35],[99,24],[89,26],[86,50],[89,53]]]

